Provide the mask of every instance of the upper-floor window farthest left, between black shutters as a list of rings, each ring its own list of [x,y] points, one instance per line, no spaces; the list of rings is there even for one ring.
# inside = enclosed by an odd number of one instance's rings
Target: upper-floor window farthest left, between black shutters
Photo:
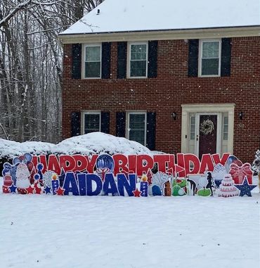
[[[84,78],[101,77],[101,45],[85,45]]]

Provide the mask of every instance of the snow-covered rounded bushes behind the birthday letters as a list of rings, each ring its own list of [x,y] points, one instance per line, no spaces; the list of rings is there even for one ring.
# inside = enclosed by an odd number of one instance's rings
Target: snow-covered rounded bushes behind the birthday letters
[[[19,143],[0,139],[0,158],[13,158],[24,153],[31,153],[32,155],[49,155],[52,153],[56,155],[73,155],[76,153],[83,155],[93,153],[109,153],[110,155],[115,153],[124,153],[125,155],[152,154],[148,148],[136,141],[129,141],[125,138],[118,138],[101,132],[74,136],[58,144],[40,141]]]

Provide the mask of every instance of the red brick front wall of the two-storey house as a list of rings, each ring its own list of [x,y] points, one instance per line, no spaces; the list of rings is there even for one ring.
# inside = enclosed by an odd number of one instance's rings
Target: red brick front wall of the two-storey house
[[[70,113],[110,111],[115,135],[116,112],[157,113],[156,149],[181,152],[181,104],[235,103],[234,155],[252,162],[260,143],[260,37],[232,39],[230,77],[188,77],[188,42],[158,42],[155,79],[117,79],[117,43],[112,43],[111,79],[71,79],[72,46],[64,46],[63,139],[70,134]],[[244,113],[243,120],[238,117]],[[177,113],[177,120],[171,113]],[[241,127],[240,123],[245,125]]]

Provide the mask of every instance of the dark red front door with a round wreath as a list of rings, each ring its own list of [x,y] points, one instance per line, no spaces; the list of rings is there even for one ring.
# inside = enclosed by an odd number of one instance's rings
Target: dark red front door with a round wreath
[[[218,135],[218,115],[197,114],[197,151],[199,158],[205,153],[216,153]]]

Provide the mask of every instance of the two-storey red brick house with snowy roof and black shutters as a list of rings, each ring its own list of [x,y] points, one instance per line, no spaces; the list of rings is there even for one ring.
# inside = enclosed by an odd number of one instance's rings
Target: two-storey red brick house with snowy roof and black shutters
[[[101,131],[151,150],[252,162],[259,1],[174,2],[105,0],[60,34],[63,139]]]

